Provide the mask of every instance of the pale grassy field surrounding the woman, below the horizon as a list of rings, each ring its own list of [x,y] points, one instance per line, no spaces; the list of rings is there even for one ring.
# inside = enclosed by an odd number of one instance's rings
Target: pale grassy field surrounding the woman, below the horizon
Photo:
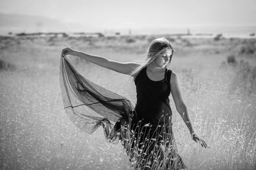
[[[171,100],[173,131],[186,166],[256,169],[256,39],[164,37],[173,42],[170,69],[179,75],[195,128],[211,147],[192,141]],[[68,119],[60,93],[60,54],[70,46],[108,59],[139,61],[154,38],[2,37],[1,169],[131,169],[120,143],[105,141],[101,128],[81,132]],[[89,80],[136,103],[129,76],[68,58]]]

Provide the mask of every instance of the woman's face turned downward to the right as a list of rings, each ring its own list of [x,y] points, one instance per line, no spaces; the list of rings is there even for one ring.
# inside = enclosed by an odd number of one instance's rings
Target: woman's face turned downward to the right
[[[156,57],[154,62],[158,67],[166,67],[168,62],[170,62],[171,55],[172,50],[170,48],[166,48]]]

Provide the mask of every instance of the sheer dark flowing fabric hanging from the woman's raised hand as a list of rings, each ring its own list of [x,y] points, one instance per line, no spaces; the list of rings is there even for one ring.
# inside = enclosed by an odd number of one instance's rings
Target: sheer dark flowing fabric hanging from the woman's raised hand
[[[81,131],[91,134],[102,126],[106,139],[115,141],[120,128],[130,124],[131,102],[81,76],[65,56],[60,60],[60,86],[65,112]]]

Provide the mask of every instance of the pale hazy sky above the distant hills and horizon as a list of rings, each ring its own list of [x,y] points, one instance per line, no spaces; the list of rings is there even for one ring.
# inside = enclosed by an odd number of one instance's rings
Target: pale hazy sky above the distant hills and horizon
[[[256,0],[0,0],[0,13],[99,29],[256,25]]]

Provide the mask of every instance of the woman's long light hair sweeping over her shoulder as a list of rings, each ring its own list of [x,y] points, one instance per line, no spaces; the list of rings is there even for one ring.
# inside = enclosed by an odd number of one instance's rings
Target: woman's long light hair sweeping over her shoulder
[[[154,39],[148,47],[148,53],[147,53],[147,57],[145,58],[145,60],[143,60],[143,62],[141,62],[141,64],[140,64],[140,66],[136,67],[134,69],[134,71],[132,71],[132,73],[131,73],[134,80],[135,80],[136,76],[138,76],[138,74],[140,73],[141,69],[147,67],[148,64],[153,62],[156,59],[156,57],[159,56],[159,54],[161,52],[163,52],[163,50],[165,50],[166,48],[169,48],[172,50],[172,55],[170,57],[168,64],[166,65],[166,67],[170,66],[171,59],[173,56],[173,46],[171,45],[170,41],[166,38]]]

